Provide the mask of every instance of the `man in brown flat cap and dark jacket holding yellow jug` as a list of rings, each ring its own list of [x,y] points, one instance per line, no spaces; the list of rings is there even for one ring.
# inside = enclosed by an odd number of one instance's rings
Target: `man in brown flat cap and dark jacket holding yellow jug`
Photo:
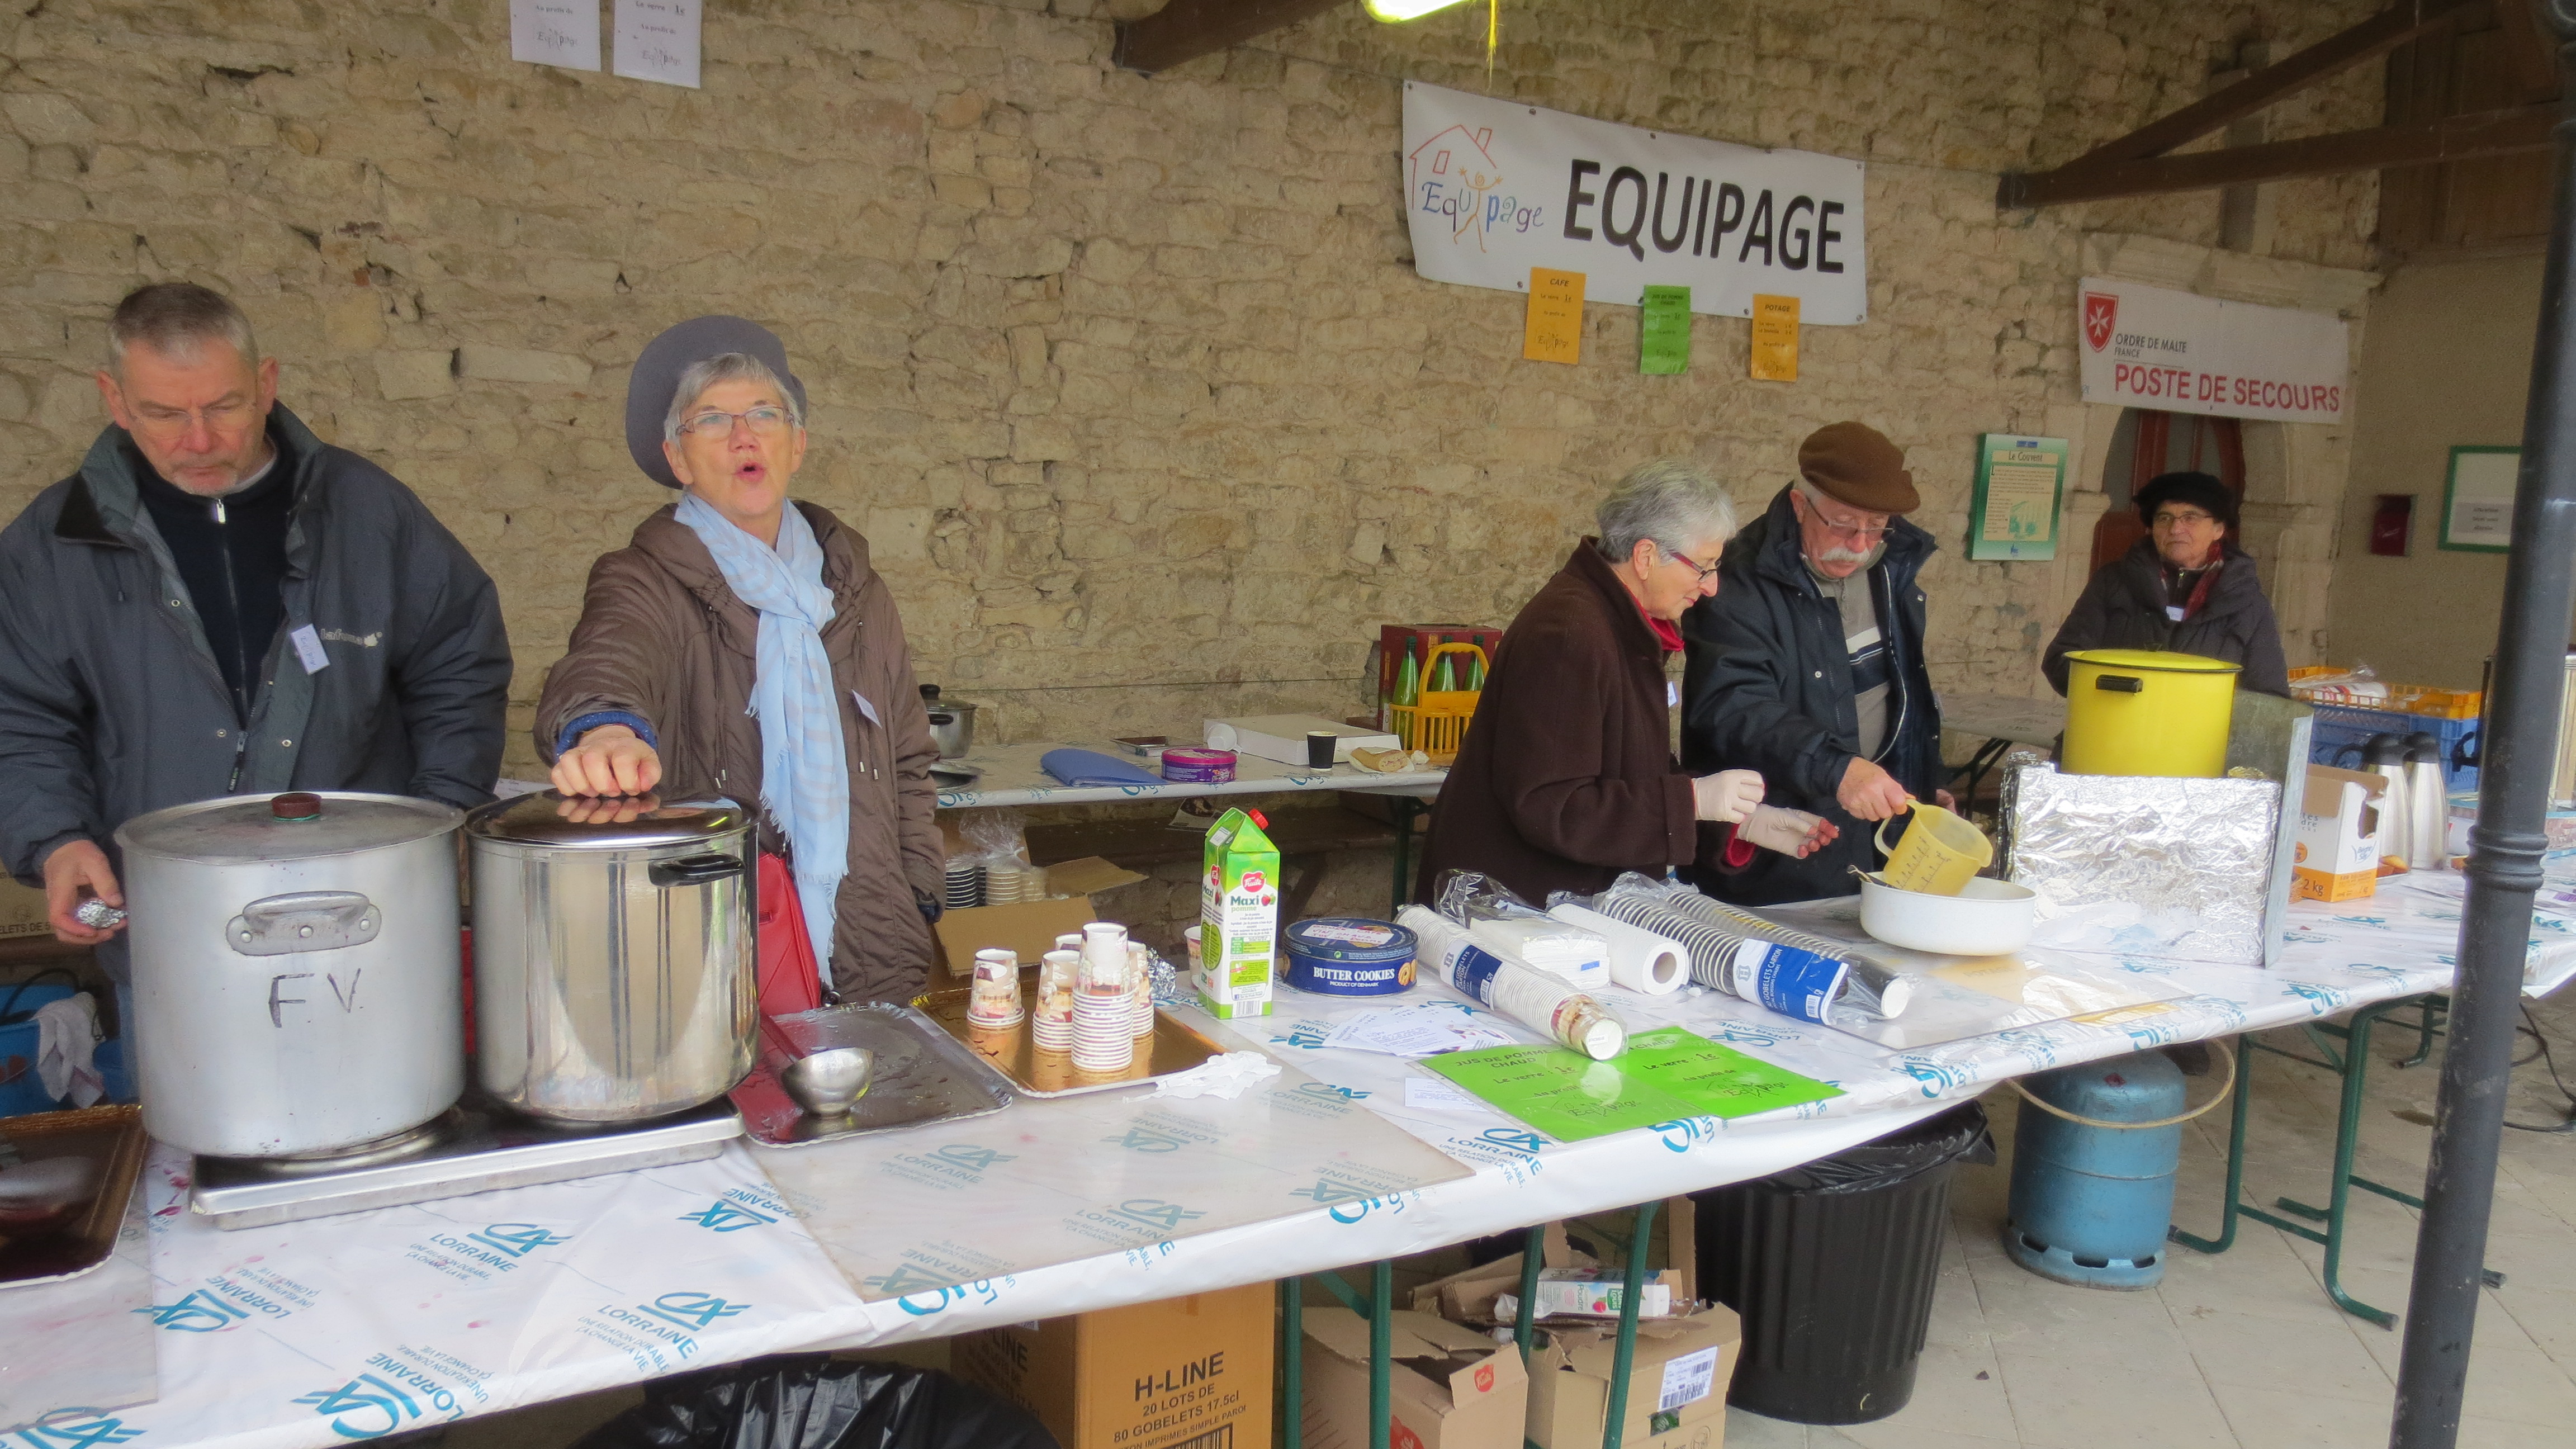
[[[1739,905],[1852,895],[1878,869],[1870,830],[1940,789],[1940,704],[1924,673],[1914,575],[1932,534],[1904,451],[1865,423],[1798,443],[1790,480],[1726,544],[1721,588],[1682,621],[1682,766],[1759,771],[1765,799],[1832,820],[1814,856],[1718,846],[1700,890]]]

